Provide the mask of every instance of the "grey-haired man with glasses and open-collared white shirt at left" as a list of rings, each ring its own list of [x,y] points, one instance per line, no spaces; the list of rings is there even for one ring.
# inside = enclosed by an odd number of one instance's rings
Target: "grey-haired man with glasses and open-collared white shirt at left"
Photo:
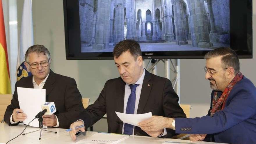
[[[13,99],[4,114],[6,123],[13,126],[26,119],[26,111],[19,107],[17,87],[46,89],[46,101],[54,102],[57,111],[52,115],[43,115],[45,126],[68,128],[75,121],[74,117],[84,110],[76,81],[55,74],[50,70],[50,64],[51,56],[47,48],[43,45],[29,47],[25,54],[25,65],[32,76],[16,82]]]

